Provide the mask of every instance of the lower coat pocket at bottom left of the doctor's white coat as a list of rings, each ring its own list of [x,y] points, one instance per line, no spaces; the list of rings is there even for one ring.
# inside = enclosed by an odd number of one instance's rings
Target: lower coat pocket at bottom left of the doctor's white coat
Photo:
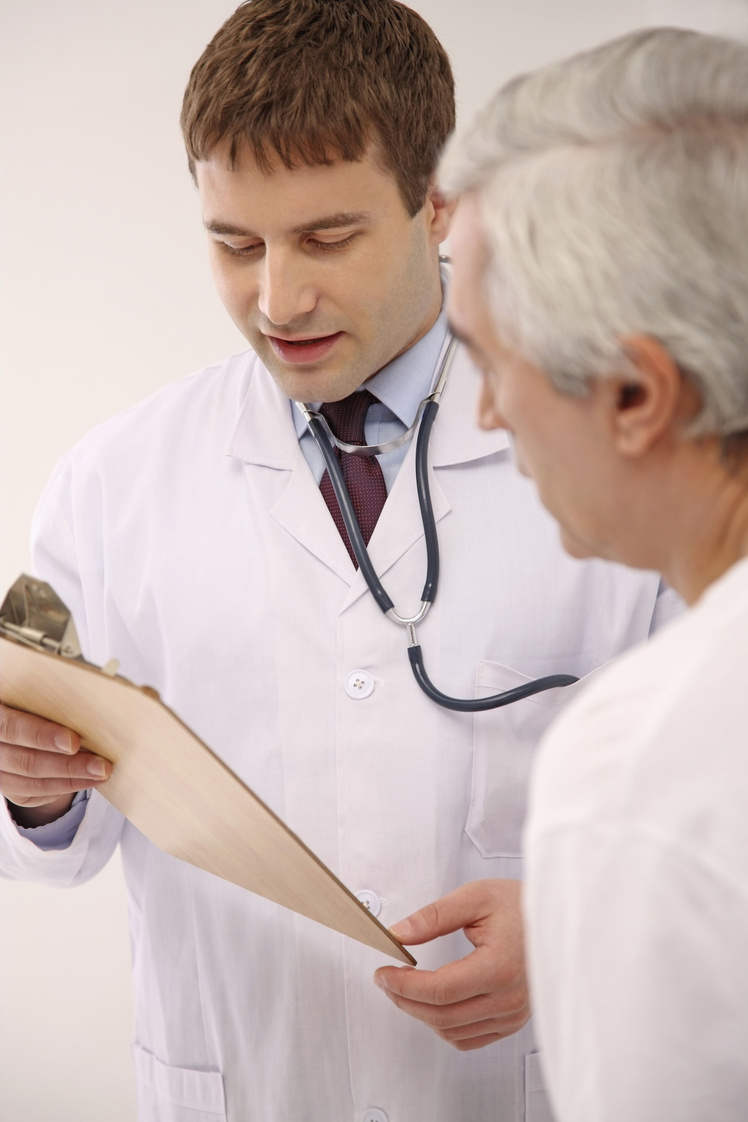
[[[132,1046],[139,1122],[225,1122],[220,1072],[172,1067],[139,1045]]]

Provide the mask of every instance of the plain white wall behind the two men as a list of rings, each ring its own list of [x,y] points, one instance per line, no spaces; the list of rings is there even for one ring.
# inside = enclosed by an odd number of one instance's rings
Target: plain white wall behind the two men
[[[242,349],[211,287],[177,123],[190,67],[234,6],[0,0],[2,594],[28,568],[31,512],[57,457],[165,381]],[[748,38],[745,0],[413,7],[452,57],[462,121],[519,71],[635,27]],[[119,861],[80,889],[3,882],[0,894],[0,1114],[130,1122]]]

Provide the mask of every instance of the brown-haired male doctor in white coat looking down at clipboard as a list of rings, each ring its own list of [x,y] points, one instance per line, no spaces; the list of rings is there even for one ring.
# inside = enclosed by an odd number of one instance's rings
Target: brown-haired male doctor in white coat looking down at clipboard
[[[349,444],[387,444],[416,420],[447,339],[450,208],[433,168],[453,117],[446,56],[404,4],[239,8],[193,71],[183,127],[216,285],[252,349],[74,449],[43,498],[35,565],[86,656],[156,687],[382,922],[487,876],[504,908],[468,932],[461,963],[418,975],[442,1003],[423,1017],[432,1033],[372,985],[378,956],[164,855],[82,793],[105,762],[4,709],[6,874],[76,884],[121,846],[141,1120],[545,1116],[519,833],[533,748],[565,693],[473,715],[418,690],[293,404],[320,405]],[[644,637],[658,606],[652,574],[563,557],[506,435],[474,429],[473,386],[458,351],[430,454],[442,580],[418,632],[461,698],[585,674]],[[408,440],[340,453],[406,615],[426,565],[414,453]],[[465,948],[458,934],[421,965]]]

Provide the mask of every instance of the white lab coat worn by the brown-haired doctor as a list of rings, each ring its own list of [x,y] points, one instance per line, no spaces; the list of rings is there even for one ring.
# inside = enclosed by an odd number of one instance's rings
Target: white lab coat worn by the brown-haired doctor
[[[563,554],[506,434],[475,429],[475,390],[460,355],[432,435],[441,583],[418,627],[432,679],[459,696],[587,674],[647,636],[658,590]],[[370,545],[403,614],[425,574],[414,451]],[[154,686],[385,925],[464,881],[520,875],[533,747],[578,687],[478,716],[421,693],[253,355],[90,434],[35,533],[36,571],[87,656]],[[368,697],[345,692],[358,669]],[[101,795],[66,850],[7,816],[2,833],[7,875],[55,884],[122,847],[144,1122],[547,1122],[529,1027],[458,1052],[373,986],[382,956],[164,855]],[[458,934],[417,958],[468,949]]]

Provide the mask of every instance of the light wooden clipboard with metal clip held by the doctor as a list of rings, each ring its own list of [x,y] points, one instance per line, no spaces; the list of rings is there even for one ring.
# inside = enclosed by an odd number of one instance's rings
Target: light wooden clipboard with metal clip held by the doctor
[[[379,920],[159,699],[80,655],[70,613],[21,577],[0,608],[2,700],[114,764],[100,793],[159,849],[415,964]]]

